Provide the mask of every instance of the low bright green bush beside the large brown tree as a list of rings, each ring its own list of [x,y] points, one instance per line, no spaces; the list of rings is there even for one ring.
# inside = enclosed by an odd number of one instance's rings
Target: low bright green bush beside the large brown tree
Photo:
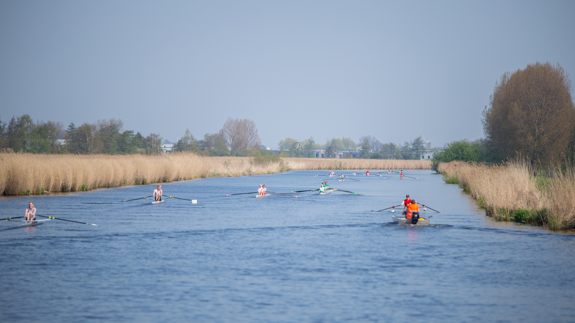
[[[435,153],[431,159],[431,169],[437,171],[440,162],[448,163],[453,160],[476,161],[485,159],[485,147],[479,140],[470,142],[467,139],[447,144],[442,152]]]

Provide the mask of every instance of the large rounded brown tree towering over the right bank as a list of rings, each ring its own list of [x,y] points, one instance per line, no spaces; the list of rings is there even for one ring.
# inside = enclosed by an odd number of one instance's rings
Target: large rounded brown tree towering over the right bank
[[[532,164],[560,160],[575,124],[570,92],[559,64],[538,61],[503,74],[481,120],[489,150],[498,159],[520,153]]]

